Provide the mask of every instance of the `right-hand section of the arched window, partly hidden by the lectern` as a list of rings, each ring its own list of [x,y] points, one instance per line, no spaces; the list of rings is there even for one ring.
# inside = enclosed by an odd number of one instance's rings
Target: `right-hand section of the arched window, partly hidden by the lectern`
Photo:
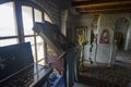
[[[33,32],[32,28],[35,22],[43,21],[48,21],[50,23],[52,22],[46,12],[28,5],[22,5],[22,18],[25,42],[31,41],[35,62],[44,64],[45,62],[44,59],[46,57],[44,45],[45,42],[40,36]]]

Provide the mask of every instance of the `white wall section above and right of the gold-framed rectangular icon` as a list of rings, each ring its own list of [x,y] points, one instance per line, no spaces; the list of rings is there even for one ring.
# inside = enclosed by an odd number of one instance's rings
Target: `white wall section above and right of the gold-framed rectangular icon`
[[[75,38],[75,29],[78,26],[87,26],[87,40],[88,40],[88,44],[84,47],[84,60],[88,60],[88,52],[90,52],[90,49],[86,48],[88,47],[88,45],[91,44],[91,29],[92,28],[92,24],[93,24],[93,20],[94,20],[94,15],[71,15],[69,16],[69,20],[70,20],[70,27],[72,28],[72,32],[73,32],[73,37],[72,38]]]

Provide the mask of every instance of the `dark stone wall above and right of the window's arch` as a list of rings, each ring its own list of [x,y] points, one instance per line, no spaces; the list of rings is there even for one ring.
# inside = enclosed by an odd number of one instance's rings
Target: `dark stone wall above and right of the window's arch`
[[[52,20],[53,24],[61,26],[61,10],[66,9],[68,1],[62,0],[31,0],[40,5]],[[62,3],[62,4],[61,4]]]

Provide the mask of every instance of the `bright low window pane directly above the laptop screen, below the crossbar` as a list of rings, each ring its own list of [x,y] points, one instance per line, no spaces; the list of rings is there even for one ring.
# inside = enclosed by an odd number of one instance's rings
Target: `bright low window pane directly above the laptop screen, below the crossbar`
[[[17,39],[0,39],[0,47],[17,44]]]

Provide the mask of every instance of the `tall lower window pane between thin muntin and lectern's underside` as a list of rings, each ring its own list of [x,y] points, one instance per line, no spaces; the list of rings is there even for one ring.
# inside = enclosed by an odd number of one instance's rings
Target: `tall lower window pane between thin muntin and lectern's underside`
[[[37,58],[38,58],[38,60],[40,60],[40,59],[44,59],[45,57],[45,52],[44,52],[44,40],[41,39],[41,37],[40,36],[37,36],[36,37],[36,40],[37,40]]]

